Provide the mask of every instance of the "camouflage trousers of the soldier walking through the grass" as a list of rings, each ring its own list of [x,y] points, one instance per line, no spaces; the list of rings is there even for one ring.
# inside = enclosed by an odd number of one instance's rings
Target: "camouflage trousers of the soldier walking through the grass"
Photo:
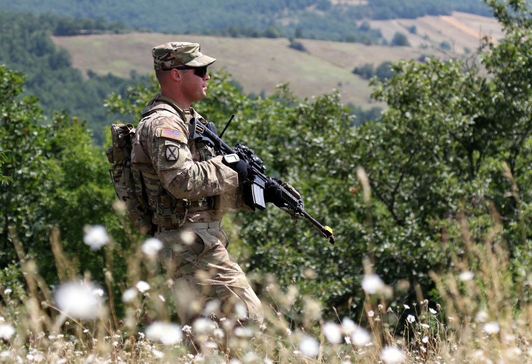
[[[201,316],[262,323],[261,302],[228,253],[225,231],[161,231],[155,237],[164,244],[159,259],[171,280],[182,325],[190,325]]]

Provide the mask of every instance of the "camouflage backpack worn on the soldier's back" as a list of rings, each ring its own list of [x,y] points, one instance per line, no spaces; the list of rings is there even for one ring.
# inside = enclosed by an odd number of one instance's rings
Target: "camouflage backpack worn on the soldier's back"
[[[111,137],[113,145],[107,149],[107,159],[113,167],[109,170],[117,197],[126,205],[129,221],[144,235],[153,235],[156,226],[152,222],[153,212],[147,208],[143,197],[140,172],[131,167],[131,142],[135,128],[131,125],[113,124]]]

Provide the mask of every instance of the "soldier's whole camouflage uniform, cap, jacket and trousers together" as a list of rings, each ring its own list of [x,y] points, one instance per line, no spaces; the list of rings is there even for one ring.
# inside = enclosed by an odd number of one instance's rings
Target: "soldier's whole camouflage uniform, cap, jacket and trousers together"
[[[191,43],[163,44],[153,55],[156,70],[214,62]],[[223,214],[240,207],[238,175],[214,150],[189,140],[191,118],[206,122],[194,109],[181,110],[157,95],[143,110],[131,153],[154,211],[155,237],[164,244],[159,255],[178,315],[182,324],[190,324],[213,313],[204,312],[207,301],[219,300],[217,317],[236,314],[240,321],[262,322],[261,303],[227,252],[228,238],[220,227]]]

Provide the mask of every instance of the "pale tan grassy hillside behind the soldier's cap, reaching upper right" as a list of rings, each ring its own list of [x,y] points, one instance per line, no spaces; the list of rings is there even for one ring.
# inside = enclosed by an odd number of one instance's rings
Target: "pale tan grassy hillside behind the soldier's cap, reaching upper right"
[[[415,20],[375,21],[387,40],[396,31],[408,35],[411,46],[390,47],[360,43],[329,42],[302,39],[307,52],[289,48],[286,38],[227,38],[200,35],[165,35],[131,33],[121,35],[91,35],[54,37],[54,42],[71,53],[73,67],[86,74],[93,70],[99,75],[128,77],[131,70],[144,75],[153,70],[150,49],[171,41],[196,42],[205,54],[218,59],[213,68],[227,69],[247,93],[271,94],[280,82],[290,82],[290,88],[302,97],[343,90],[342,101],[363,107],[370,106],[368,81],[352,73],[365,63],[378,65],[384,61],[419,59],[423,55],[438,54],[430,45],[442,40],[456,44],[456,55],[464,49],[474,50],[479,34],[500,35],[500,28],[492,18],[455,12],[452,16],[424,16]],[[406,27],[415,25],[417,34],[409,34]],[[489,31],[489,32],[488,32]],[[475,36],[477,34],[477,36]],[[423,38],[425,37],[425,38]],[[428,39],[426,39],[428,38]],[[124,56],[127,55],[127,56]]]

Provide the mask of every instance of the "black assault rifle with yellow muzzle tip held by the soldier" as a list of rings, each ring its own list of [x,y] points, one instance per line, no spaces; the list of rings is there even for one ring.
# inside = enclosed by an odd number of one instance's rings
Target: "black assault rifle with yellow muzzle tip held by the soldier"
[[[232,115],[232,117],[234,117],[234,115]],[[229,123],[231,122],[232,117],[229,120]],[[222,135],[223,132],[226,131],[227,126],[222,131]],[[287,183],[280,184],[277,180],[265,174],[264,171],[266,170],[266,167],[262,165],[262,160],[253,153],[252,149],[242,144],[237,144],[235,149],[232,149],[218,136],[218,131],[212,122],[204,125],[194,118],[190,120],[188,132],[189,139],[194,140],[196,143],[204,143],[214,147],[224,156],[226,163],[237,163],[240,159],[243,159],[248,163],[247,178],[243,184],[244,201],[251,209],[253,209],[253,211],[256,211],[256,209],[264,210],[266,208],[266,203],[264,202],[264,188],[268,184],[276,184],[282,192],[282,202],[285,204],[285,207],[280,207],[280,209],[290,214],[294,219],[297,219],[300,216],[305,217],[320,229],[321,235],[328,238],[329,243],[334,244],[332,229],[328,226],[321,225],[305,211],[301,195],[292,186]]]

